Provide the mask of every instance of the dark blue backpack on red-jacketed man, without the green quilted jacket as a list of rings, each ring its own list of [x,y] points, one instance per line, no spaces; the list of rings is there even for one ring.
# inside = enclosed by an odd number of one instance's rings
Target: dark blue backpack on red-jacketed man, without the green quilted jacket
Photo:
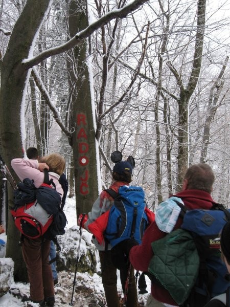
[[[210,210],[188,210],[183,216],[181,228],[192,234],[200,258],[198,278],[190,300],[198,293],[209,301],[230,287],[229,274],[220,253],[220,233],[229,220],[230,210],[221,204],[213,204]]]

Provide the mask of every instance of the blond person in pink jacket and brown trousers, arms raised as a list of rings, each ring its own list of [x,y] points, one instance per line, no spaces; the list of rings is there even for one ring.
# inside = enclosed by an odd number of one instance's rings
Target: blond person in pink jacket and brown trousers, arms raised
[[[44,181],[44,169],[49,170],[49,179],[53,179],[57,192],[63,196],[59,183],[60,175],[65,168],[65,160],[58,153],[43,157],[42,163],[37,160],[13,159],[11,166],[21,181],[25,178],[34,180],[36,188]],[[49,265],[50,240],[43,237],[30,239],[25,235],[21,239],[22,256],[26,263],[30,282],[30,299],[40,306],[54,306],[54,283]]]

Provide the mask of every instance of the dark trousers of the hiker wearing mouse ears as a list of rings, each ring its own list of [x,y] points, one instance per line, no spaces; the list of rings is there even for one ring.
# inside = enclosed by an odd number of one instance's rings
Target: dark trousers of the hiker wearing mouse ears
[[[120,307],[117,289],[117,268],[112,264],[111,251],[99,251],[99,257],[101,262],[102,283],[105,291],[107,307]],[[127,273],[128,268],[120,270],[123,292],[125,291]],[[131,267],[126,306],[137,307],[137,301],[134,269]]]

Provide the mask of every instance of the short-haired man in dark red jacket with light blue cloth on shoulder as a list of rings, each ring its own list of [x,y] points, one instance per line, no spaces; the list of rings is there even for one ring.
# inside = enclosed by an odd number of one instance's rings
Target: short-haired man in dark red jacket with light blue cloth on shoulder
[[[174,195],[174,197],[181,198],[189,210],[200,208],[210,209],[215,203],[211,196],[214,180],[214,173],[209,165],[205,163],[194,164],[187,169],[182,183],[182,190]],[[148,265],[153,256],[151,243],[164,237],[167,232],[180,227],[182,223],[180,217],[175,219],[174,224],[172,223],[173,219],[170,219],[172,216],[176,215],[178,217],[179,215],[179,212],[175,212],[175,210],[173,212],[173,209],[171,208],[173,213],[171,216],[165,212],[165,214],[160,217],[157,216],[156,212],[155,222],[153,222],[145,231],[142,244],[131,248],[129,260],[134,269],[143,272],[148,271]],[[168,216],[168,221],[166,221],[166,216]],[[167,228],[170,229],[170,231],[167,231]],[[148,297],[146,304],[148,307],[164,306],[160,302],[175,306],[177,305],[169,292],[162,286],[152,283],[151,294],[152,295]]]

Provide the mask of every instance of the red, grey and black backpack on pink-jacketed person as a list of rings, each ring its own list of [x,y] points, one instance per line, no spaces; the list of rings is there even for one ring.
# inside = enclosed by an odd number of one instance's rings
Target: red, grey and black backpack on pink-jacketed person
[[[15,226],[25,236],[36,239],[50,227],[61,204],[60,194],[52,188],[48,170],[44,171],[44,183],[36,188],[33,180],[24,179],[14,191],[15,207],[10,210]],[[28,202],[28,200],[32,200]],[[44,203],[44,204],[43,204]],[[49,210],[45,210],[48,209]]]

